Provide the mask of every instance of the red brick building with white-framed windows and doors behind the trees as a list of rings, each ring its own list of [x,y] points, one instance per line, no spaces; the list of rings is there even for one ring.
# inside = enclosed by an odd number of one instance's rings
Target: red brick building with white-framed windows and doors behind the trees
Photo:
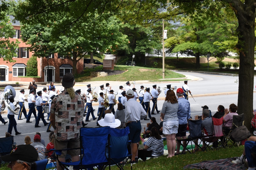
[[[12,22],[14,17],[9,17]],[[36,82],[48,82],[49,78],[50,82],[59,82],[65,73],[73,72],[72,61],[55,53],[50,55],[48,60],[47,58],[37,58],[37,74],[40,78],[19,77],[26,76],[26,64],[29,57],[33,55],[33,52],[28,51],[26,47],[29,45],[26,45],[26,43],[20,39],[22,35],[20,34],[19,21],[12,23],[12,26],[14,27],[13,29],[16,30],[16,34],[14,34],[13,38],[9,39],[10,41],[16,41],[16,39],[18,39],[20,44],[19,48],[16,49],[17,57],[13,57],[16,62],[6,62],[3,58],[0,58],[0,81],[31,82],[34,79]],[[81,73],[83,68],[83,59],[81,59],[77,63],[77,72]]]

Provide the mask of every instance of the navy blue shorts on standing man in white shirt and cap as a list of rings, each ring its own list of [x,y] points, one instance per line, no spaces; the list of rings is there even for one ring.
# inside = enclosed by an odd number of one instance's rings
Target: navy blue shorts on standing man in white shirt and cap
[[[141,140],[141,122],[127,124],[130,129],[130,140],[132,143],[137,143]]]

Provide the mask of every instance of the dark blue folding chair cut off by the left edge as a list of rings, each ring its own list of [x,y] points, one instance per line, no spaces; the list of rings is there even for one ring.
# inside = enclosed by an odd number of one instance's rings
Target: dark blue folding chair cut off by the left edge
[[[8,155],[13,150],[13,136],[0,138],[0,156]],[[0,157],[0,167],[2,160]],[[5,164],[5,163],[4,163]]]

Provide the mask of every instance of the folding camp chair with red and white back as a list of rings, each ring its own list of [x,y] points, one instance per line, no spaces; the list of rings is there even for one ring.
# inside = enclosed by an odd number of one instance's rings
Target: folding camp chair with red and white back
[[[210,143],[215,142],[216,146],[219,145],[219,147],[216,147],[216,150],[219,149],[221,146],[224,147],[222,144],[222,140],[219,141],[220,138],[224,136],[223,134],[223,117],[221,118],[215,118],[212,117],[212,126],[213,126],[213,134],[212,135],[204,135],[203,142],[205,144],[205,148],[209,148],[211,150],[214,150],[214,148],[210,147]],[[224,147],[225,148],[225,147]]]

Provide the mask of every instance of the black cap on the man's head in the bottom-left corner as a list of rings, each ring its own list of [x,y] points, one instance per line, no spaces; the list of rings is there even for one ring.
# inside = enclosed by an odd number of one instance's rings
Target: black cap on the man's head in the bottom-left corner
[[[4,162],[12,162],[17,160],[35,162],[37,161],[37,158],[38,153],[31,145],[18,145],[9,155],[1,156],[1,160]]]

